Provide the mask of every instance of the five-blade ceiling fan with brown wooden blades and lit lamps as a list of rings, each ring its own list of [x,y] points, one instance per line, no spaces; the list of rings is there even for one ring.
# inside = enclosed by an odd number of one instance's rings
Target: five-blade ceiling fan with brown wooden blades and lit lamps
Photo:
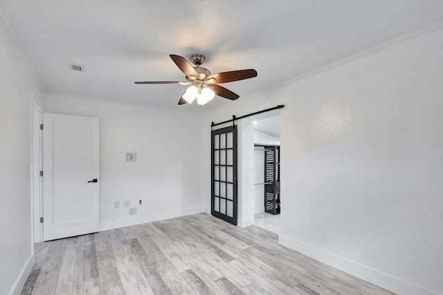
[[[220,83],[234,82],[257,77],[255,69],[229,71],[223,73],[212,74],[201,64],[205,61],[205,56],[202,54],[191,55],[192,66],[184,57],[170,54],[172,61],[177,64],[179,69],[186,75],[186,81],[146,81],[135,82],[135,84],[181,84],[190,85],[188,89],[181,95],[179,105],[184,105],[187,102],[192,103],[197,99],[199,105],[205,105],[212,100],[214,96],[221,96],[230,100],[236,100],[239,96],[233,91],[221,87]]]

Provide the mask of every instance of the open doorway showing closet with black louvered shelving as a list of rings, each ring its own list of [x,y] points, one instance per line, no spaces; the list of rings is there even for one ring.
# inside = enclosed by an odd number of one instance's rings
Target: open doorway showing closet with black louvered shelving
[[[280,233],[280,116],[253,121],[254,222]]]

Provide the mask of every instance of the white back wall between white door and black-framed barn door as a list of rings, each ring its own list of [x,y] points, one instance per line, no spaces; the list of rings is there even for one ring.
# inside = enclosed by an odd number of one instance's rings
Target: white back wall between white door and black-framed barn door
[[[44,108],[100,120],[100,229],[205,211],[198,116],[55,94]],[[136,152],[137,162],[127,163],[126,152]],[[137,215],[129,215],[125,201]]]

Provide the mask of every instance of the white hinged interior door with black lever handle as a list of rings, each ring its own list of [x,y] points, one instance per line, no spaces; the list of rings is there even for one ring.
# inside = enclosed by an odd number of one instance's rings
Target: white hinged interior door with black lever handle
[[[44,240],[98,231],[98,118],[44,114]]]

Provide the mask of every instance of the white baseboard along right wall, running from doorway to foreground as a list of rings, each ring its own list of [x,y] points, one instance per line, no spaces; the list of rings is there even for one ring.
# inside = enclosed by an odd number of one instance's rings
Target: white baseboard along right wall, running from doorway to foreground
[[[421,286],[417,286],[413,283],[396,278],[390,274],[386,274],[383,271],[372,269],[365,265],[361,265],[359,262],[349,260],[347,258],[338,256],[334,253],[330,253],[323,249],[319,249],[310,244],[305,244],[299,240],[290,238],[286,235],[279,235],[278,242],[284,247],[293,249],[305,256],[314,258],[320,262],[325,263],[338,270],[344,271],[347,274],[361,278],[362,280],[372,283],[383,289],[387,289],[390,292],[401,295],[441,295],[437,292],[431,291]]]

